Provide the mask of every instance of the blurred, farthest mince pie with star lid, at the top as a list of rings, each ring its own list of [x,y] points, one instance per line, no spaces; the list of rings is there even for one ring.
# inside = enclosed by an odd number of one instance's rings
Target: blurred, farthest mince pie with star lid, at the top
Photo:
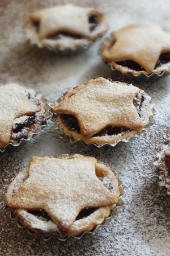
[[[74,49],[94,42],[106,30],[107,22],[99,11],[67,4],[30,14],[25,32],[39,47]]]

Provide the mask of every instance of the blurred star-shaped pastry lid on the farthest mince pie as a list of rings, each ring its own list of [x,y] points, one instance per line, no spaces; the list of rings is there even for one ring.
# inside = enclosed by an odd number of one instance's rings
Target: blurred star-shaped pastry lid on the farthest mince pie
[[[59,32],[68,32],[91,39],[88,17],[91,14],[103,16],[92,8],[83,8],[70,4],[42,9],[29,15],[29,19],[40,22],[39,39],[45,39]]]

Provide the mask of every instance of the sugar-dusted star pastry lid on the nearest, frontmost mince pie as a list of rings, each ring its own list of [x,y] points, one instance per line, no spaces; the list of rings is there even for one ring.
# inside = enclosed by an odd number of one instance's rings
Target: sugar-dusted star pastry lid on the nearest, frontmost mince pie
[[[29,177],[8,201],[9,208],[45,210],[66,231],[85,208],[117,203],[95,174],[95,158],[39,158],[29,163]],[[9,189],[10,191],[10,189]]]

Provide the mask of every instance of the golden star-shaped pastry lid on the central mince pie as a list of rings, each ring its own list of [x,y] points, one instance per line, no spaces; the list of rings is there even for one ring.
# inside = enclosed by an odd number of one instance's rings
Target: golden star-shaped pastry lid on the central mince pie
[[[133,105],[139,91],[133,85],[99,77],[71,90],[52,112],[74,115],[85,138],[108,126],[142,130],[143,122]]]

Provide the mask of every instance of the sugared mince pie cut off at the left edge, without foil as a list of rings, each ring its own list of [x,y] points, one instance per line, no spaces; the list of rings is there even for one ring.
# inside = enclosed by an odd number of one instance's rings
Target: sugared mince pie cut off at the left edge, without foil
[[[44,104],[33,90],[18,84],[0,86],[0,148],[18,144],[46,125]]]

